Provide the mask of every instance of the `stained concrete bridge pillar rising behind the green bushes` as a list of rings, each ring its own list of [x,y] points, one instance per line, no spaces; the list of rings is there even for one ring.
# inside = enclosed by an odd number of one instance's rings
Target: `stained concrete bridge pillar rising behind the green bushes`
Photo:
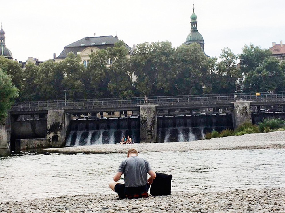
[[[236,129],[239,125],[252,122],[250,102],[252,101],[235,101],[233,103],[233,128]]]

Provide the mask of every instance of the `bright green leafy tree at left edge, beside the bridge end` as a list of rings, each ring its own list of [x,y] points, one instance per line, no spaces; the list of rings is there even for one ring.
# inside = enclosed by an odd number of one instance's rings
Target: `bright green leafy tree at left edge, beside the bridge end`
[[[12,78],[0,69],[0,123],[5,122],[8,110],[18,97],[18,92]]]

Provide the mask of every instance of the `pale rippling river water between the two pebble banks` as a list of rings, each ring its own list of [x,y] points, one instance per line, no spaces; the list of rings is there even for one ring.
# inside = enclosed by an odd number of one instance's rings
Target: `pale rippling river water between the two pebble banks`
[[[172,192],[285,187],[285,150],[140,153],[153,170],[172,174]],[[77,194],[108,188],[126,154],[37,154],[0,157],[0,201]]]

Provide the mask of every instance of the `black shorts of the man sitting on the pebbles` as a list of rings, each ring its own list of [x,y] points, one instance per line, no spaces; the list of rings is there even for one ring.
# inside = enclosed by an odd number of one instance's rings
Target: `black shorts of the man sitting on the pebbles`
[[[146,184],[139,187],[125,187],[125,184],[117,183],[115,185],[115,192],[118,193],[119,198],[139,198],[148,197],[147,191],[150,185]]]

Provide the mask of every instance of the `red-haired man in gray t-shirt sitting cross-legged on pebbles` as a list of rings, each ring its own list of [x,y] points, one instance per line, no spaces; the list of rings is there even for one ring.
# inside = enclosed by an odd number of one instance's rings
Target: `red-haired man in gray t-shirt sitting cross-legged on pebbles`
[[[147,191],[156,177],[149,162],[138,157],[138,151],[129,149],[127,159],[123,160],[109,187],[118,193],[120,198],[148,197]],[[125,184],[118,183],[121,175],[125,175]],[[147,174],[150,175],[147,179]]]

